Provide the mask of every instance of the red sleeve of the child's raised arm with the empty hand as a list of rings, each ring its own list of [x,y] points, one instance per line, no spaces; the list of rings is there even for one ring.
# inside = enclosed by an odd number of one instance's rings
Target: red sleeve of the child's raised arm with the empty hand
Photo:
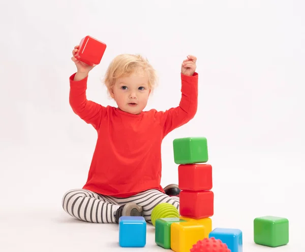
[[[198,105],[198,73],[193,76],[181,74],[181,99],[177,107],[165,112],[158,112],[160,124],[163,128],[163,137],[173,129],[178,128],[192,118],[197,112]]]

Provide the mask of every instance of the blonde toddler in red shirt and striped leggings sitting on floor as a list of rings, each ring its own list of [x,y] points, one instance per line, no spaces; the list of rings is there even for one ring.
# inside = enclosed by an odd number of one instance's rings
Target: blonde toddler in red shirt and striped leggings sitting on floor
[[[70,77],[73,112],[98,133],[96,148],[82,189],[63,196],[64,210],[85,222],[118,223],[121,216],[143,216],[151,223],[151,211],[167,202],[179,210],[177,185],[161,187],[161,143],[173,129],[189,122],[197,112],[196,57],[181,65],[181,100],[166,111],[143,111],[156,84],[154,68],[140,55],[122,54],[110,63],[105,85],[117,107],[87,100],[89,71],[95,66],[75,58],[77,72]],[[170,94],[168,94],[170,95]]]

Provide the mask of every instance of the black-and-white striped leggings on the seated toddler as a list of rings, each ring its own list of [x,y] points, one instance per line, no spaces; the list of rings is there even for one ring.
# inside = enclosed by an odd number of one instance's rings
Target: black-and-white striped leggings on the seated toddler
[[[170,203],[179,211],[179,197],[170,197],[152,189],[128,198],[116,198],[85,189],[70,190],[64,194],[62,205],[72,217],[93,223],[115,223],[114,214],[120,205],[134,202],[143,208],[143,217],[151,224],[151,211],[159,203]]]

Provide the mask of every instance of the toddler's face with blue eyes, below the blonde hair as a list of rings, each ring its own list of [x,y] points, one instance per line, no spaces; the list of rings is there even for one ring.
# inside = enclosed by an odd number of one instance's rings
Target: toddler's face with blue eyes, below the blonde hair
[[[149,94],[148,76],[143,72],[116,79],[113,92],[110,92],[120,110],[135,115],[144,109]]]

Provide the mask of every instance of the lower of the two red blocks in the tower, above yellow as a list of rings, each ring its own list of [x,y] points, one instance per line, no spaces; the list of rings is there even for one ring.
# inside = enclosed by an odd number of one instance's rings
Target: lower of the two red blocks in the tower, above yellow
[[[181,191],[180,215],[192,219],[203,219],[214,214],[212,191]]]

